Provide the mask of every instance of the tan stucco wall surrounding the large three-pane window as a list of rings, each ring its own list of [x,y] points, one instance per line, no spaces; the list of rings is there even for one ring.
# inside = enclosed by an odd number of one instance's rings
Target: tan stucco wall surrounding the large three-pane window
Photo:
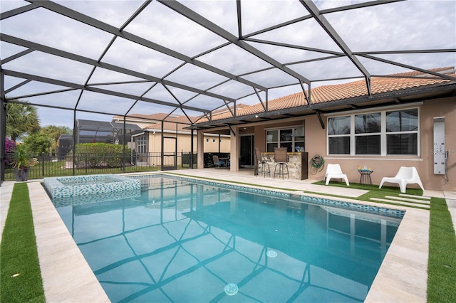
[[[410,107],[410,106],[405,106]],[[380,184],[384,176],[395,176],[400,166],[415,166],[420,174],[425,189],[438,191],[456,190],[456,97],[446,99],[427,100],[420,108],[420,156],[329,156],[326,154],[326,124],[327,117],[322,115],[325,129],[316,115],[302,117],[306,127],[306,151],[309,152],[309,160],[319,154],[323,156],[326,164],[341,164],[343,172],[351,182],[359,182],[360,174],[358,166],[368,166],[374,171],[371,174],[373,184]],[[400,108],[400,107],[398,107]],[[382,110],[380,107],[379,110]],[[448,160],[448,184],[444,182],[443,175],[435,175],[433,168],[433,118],[445,117],[445,149],[450,152]],[[302,120],[301,120],[302,121]],[[265,151],[265,129],[271,127],[286,127],[299,125],[299,121],[285,123],[271,123],[255,127],[255,147]],[[326,166],[317,174],[311,174],[309,166],[309,179],[323,180]],[[394,186],[394,184],[385,184]],[[408,186],[417,187],[415,185]]]

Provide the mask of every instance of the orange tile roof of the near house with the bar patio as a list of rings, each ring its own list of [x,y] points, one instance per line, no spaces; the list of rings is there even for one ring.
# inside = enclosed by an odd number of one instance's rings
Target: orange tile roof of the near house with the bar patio
[[[435,68],[430,70],[437,73],[445,73],[456,77],[455,68]],[[435,85],[439,83],[448,83],[450,80],[436,78],[434,75],[421,73],[418,71],[408,73],[398,73],[385,77],[371,78],[371,93],[372,95],[384,92],[393,92],[397,90],[406,90],[413,87],[423,87],[426,85]],[[308,91],[306,91],[308,94]],[[336,85],[323,85],[312,88],[311,104],[318,104],[337,100],[346,100],[354,97],[367,96],[368,90],[365,80],[358,80],[351,83],[343,83]],[[307,105],[307,101],[303,92],[296,92],[291,95],[279,97],[274,100],[269,100],[268,111],[284,110],[292,107],[300,107]],[[257,104],[248,107],[238,108],[237,117],[255,115],[264,112],[263,105]],[[214,115],[215,114],[215,115]],[[230,119],[230,112],[222,112],[217,115],[217,111],[212,112],[212,120]],[[208,122],[207,118],[200,119],[197,123]]]

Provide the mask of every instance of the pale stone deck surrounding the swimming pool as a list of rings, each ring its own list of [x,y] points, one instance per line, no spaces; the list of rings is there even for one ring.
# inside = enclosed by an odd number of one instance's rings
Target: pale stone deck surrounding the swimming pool
[[[332,186],[311,184],[316,180],[272,179],[253,176],[252,170],[231,172],[222,169],[191,169],[158,172],[177,174],[226,182],[235,181],[258,186],[289,188],[292,191],[335,193]],[[152,174],[152,173],[147,173]],[[92,270],[81,254],[71,234],[48,198],[41,182],[28,181],[31,196],[33,223],[35,225],[38,258],[46,302],[110,302]],[[0,234],[3,233],[14,181],[6,181],[0,187]],[[361,196],[366,191],[354,188],[337,188],[341,201]],[[312,195],[314,196],[314,195]],[[425,191],[423,196],[445,198],[453,225],[456,222],[456,193]],[[388,206],[375,202],[362,202],[373,206],[403,209],[405,216],[383,260],[365,302],[426,302],[429,215],[427,210],[406,206]],[[456,229],[456,228],[455,228]]]

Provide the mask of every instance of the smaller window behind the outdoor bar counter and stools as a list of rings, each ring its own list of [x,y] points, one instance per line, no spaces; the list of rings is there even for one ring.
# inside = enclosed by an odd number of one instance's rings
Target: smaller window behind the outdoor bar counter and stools
[[[289,152],[304,151],[304,125],[292,128],[266,130],[266,151],[274,152],[275,147],[286,147]]]

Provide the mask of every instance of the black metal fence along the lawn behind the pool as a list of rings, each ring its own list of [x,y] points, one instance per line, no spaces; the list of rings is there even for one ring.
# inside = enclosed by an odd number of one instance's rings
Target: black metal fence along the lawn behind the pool
[[[141,171],[169,169],[190,169],[197,167],[197,154],[178,153],[133,153],[123,157],[99,156],[94,154],[73,154],[64,159],[40,154],[35,156],[36,164],[28,168],[28,179],[43,179],[50,176],[78,176],[86,174],[120,174]],[[163,159],[163,161],[162,161]],[[5,180],[15,180],[14,168],[6,166]]]

